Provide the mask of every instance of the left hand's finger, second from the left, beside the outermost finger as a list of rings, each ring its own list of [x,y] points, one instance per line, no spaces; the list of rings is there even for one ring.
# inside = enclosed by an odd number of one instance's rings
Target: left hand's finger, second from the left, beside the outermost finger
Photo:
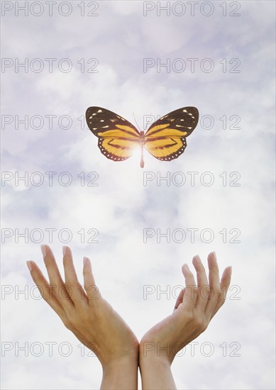
[[[54,293],[57,297],[57,300],[62,306],[72,307],[73,302],[70,299],[67,289],[65,289],[65,284],[62,280],[62,277],[60,276],[60,271],[57,267],[57,263],[55,262],[55,257],[52,250],[48,245],[41,245],[41,252],[43,254],[43,260],[48,272],[50,285],[52,285],[55,289]]]

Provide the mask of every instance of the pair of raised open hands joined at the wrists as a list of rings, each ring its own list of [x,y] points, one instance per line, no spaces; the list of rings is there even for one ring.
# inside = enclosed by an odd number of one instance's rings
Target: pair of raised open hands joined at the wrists
[[[231,267],[219,267],[214,252],[208,256],[209,282],[204,266],[195,256],[197,284],[187,264],[182,267],[185,288],[175,308],[143,335],[140,343],[131,328],[102,298],[92,274],[91,262],[84,257],[84,288],[77,279],[70,247],[63,247],[65,282],[48,245],[41,246],[49,281],[35,262],[27,265],[43,299],[60,316],[66,328],[92,350],[103,367],[101,389],[137,389],[140,366],[142,386],[147,389],[175,389],[170,365],[177,352],[197,338],[222,306],[231,282]],[[170,387],[169,387],[170,386]]]

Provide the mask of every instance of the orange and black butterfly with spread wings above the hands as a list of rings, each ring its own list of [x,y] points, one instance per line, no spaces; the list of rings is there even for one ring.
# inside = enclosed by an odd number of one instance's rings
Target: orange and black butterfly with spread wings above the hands
[[[101,153],[113,161],[131,157],[140,146],[140,167],[144,167],[143,148],[161,161],[180,157],[187,146],[186,137],[197,127],[199,111],[183,107],[155,121],[144,133],[116,113],[101,107],[89,107],[87,126],[99,138]]]

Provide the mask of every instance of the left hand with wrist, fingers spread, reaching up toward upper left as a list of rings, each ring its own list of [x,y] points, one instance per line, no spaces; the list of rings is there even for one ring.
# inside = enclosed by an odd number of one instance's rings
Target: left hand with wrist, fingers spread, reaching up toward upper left
[[[50,247],[42,245],[41,248],[50,283],[35,262],[29,261],[27,264],[43,299],[60,316],[66,328],[97,355],[107,377],[114,377],[115,373],[118,377],[118,367],[126,372],[128,365],[131,365],[129,372],[137,381],[138,340],[118,313],[101,297],[94,281],[90,260],[84,257],[83,289],[77,280],[69,247],[64,247],[65,282],[60,276]],[[113,379],[112,383],[115,383]],[[122,384],[117,386],[123,388]],[[137,389],[135,384],[129,382],[125,386],[126,389]]]

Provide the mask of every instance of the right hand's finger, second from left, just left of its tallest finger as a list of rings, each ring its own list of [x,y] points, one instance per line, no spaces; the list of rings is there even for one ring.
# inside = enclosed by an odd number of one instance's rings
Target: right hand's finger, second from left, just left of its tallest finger
[[[202,264],[202,260],[200,260],[199,255],[193,257],[192,263],[194,264],[194,268],[197,271],[197,286],[199,286],[196,306],[199,308],[199,310],[204,311],[209,299],[210,288],[208,279],[204,265]]]

